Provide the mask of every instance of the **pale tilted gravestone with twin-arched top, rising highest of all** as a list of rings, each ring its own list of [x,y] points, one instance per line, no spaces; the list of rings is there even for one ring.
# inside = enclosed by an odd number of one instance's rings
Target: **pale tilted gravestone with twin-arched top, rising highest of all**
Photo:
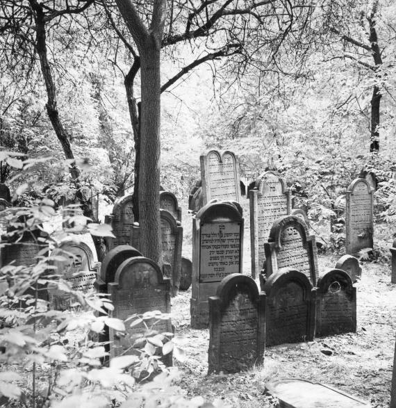
[[[240,202],[239,164],[233,152],[210,150],[200,156],[203,204],[212,199]]]

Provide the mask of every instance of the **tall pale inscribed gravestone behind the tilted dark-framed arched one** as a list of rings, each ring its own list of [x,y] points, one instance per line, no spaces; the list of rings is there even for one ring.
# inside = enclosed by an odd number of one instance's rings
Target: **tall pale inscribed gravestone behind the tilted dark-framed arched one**
[[[253,278],[265,263],[264,243],[275,220],[291,211],[290,190],[275,172],[265,172],[256,180],[255,188],[249,191],[251,276]]]

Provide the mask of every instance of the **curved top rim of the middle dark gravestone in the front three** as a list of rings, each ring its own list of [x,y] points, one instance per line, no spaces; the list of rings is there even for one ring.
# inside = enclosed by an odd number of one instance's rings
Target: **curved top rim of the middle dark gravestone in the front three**
[[[264,283],[263,292],[267,295],[267,299],[274,296],[274,293],[281,290],[285,284],[294,282],[303,288],[303,299],[311,300],[312,284],[308,277],[303,272],[290,268],[282,268],[276,273],[273,273]],[[292,295],[288,293],[288,295]]]

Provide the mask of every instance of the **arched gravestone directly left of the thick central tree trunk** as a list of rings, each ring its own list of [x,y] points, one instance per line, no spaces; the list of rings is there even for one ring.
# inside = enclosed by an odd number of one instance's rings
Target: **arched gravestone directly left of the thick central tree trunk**
[[[106,215],[106,223],[113,228],[115,238],[106,238],[108,250],[118,245],[131,245],[131,227],[135,218],[133,216],[133,195],[124,195],[116,200],[113,213]]]

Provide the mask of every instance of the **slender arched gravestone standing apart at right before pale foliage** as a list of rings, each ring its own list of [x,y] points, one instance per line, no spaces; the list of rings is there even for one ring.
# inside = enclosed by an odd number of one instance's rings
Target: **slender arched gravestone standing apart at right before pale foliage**
[[[354,179],[347,188],[345,252],[357,254],[373,247],[372,190],[365,179]]]

